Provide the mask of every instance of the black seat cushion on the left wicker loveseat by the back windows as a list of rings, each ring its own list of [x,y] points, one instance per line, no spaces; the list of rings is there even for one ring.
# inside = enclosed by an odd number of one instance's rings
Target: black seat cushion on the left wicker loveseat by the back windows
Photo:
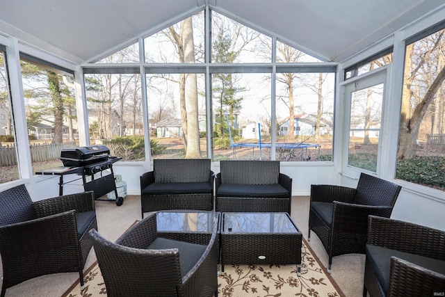
[[[145,195],[211,193],[209,182],[168,182],[149,184],[142,190]]]

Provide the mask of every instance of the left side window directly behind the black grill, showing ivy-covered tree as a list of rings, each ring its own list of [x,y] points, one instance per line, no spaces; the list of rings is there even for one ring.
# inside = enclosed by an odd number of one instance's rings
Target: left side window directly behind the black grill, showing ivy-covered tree
[[[28,56],[21,65],[33,173],[62,166],[60,150],[79,142],[74,77]]]

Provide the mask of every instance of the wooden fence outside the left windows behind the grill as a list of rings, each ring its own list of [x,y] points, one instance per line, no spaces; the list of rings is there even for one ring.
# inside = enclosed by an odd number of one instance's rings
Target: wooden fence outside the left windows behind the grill
[[[60,151],[65,148],[76,147],[76,143],[41,143],[29,145],[32,162],[43,162],[60,158]],[[0,167],[17,165],[17,155],[14,145],[0,147]]]

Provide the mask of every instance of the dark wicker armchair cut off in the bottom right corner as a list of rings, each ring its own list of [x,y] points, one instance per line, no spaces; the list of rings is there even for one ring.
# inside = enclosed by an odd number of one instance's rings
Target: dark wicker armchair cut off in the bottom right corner
[[[363,296],[444,296],[445,232],[369,216]]]

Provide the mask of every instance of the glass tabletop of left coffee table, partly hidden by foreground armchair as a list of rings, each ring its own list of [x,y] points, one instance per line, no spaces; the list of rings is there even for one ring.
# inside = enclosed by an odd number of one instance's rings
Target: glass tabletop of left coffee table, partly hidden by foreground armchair
[[[219,213],[213,211],[159,211],[156,225],[159,232],[212,232]]]

